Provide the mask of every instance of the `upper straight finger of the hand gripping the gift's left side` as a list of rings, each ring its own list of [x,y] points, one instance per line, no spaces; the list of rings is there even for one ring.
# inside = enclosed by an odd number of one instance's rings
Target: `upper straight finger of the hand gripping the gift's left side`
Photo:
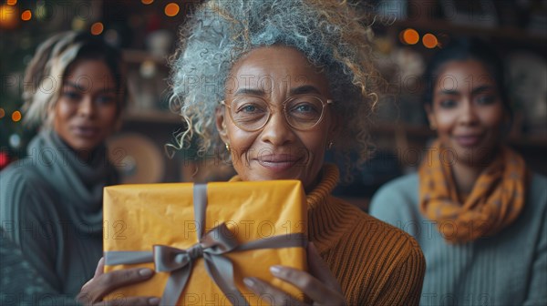
[[[107,296],[112,291],[140,281],[149,280],[154,274],[148,268],[132,268],[101,273],[89,280],[77,295],[77,301],[93,304]]]

